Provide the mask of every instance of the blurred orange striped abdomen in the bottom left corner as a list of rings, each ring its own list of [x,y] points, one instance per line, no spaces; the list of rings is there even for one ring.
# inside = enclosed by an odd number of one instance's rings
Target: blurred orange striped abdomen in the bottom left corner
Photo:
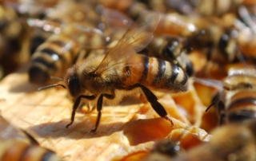
[[[0,141],[0,160],[20,161],[57,161],[62,160],[54,151],[38,145],[30,145],[19,139]]]

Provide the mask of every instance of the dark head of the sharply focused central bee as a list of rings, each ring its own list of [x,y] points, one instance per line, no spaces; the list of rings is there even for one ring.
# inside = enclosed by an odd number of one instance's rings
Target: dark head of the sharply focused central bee
[[[66,80],[70,95],[72,97],[78,96],[81,92],[81,86],[76,66],[68,69],[64,80]]]

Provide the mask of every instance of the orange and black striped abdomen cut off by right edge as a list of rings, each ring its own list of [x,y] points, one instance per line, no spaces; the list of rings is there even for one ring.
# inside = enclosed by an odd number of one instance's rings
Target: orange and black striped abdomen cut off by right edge
[[[226,104],[226,119],[228,122],[241,122],[256,119],[256,92],[239,91]]]

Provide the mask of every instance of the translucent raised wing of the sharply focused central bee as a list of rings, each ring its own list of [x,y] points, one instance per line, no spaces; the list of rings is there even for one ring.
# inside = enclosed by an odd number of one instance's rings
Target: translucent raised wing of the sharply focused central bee
[[[150,43],[154,29],[158,26],[159,18],[157,12],[150,12],[142,18],[138,18],[138,21],[133,23],[118,41],[118,44],[109,49],[94,72],[102,73],[110,67],[120,69],[119,67],[124,65],[123,62],[127,58],[137,54],[138,51],[144,49]]]

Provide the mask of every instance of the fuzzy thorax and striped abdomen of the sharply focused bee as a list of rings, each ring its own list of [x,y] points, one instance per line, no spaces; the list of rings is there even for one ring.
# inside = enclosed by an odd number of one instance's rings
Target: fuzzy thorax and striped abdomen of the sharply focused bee
[[[104,57],[104,55],[103,55]],[[74,65],[69,69],[66,79],[77,77],[79,85],[88,86],[90,93],[111,93],[114,89],[129,90],[135,84],[158,91],[184,92],[187,90],[187,75],[181,68],[169,61],[162,61],[154,57],[134,55],[123,63],[120,69],[110,69],[94,73],[103,57],[86,60],[82,65]],[[70,91],[73,89],[70,88]],[[72,92],[70,92],[72,93]],[[82,95],[84,91],[76,92]],[[71,94],[72,95],[72,94]]]

